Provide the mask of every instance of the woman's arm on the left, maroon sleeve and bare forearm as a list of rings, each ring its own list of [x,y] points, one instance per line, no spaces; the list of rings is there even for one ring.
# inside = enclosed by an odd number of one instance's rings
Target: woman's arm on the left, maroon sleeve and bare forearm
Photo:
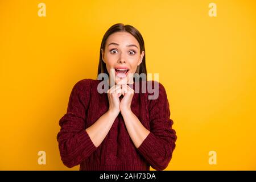
[[[118,113],[112,110],[103,114],[92,126],[85,129],[85,116],[90,100],[90,83],[87,80],[73,87],[67,114],[59,122],[57,134],[61,160],[65,166],[77,166],[100,146]]]

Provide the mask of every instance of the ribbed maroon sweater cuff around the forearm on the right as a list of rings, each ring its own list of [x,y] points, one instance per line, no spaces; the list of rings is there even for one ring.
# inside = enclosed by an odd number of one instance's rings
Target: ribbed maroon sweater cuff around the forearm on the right
[[[155,135],[152,132],[150,132],[147,135],[147,137],[143,140],[141,146],[139,146],[139,152],[141,152],[143,155],[151,154],[152,148],[154,148],[155,139]]]

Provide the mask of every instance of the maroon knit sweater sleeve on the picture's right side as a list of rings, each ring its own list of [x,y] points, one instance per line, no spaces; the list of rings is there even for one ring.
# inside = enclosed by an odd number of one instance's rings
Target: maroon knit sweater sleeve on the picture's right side
[[[170,108],[166,90],[159,83],[159,97],[150,100],[150,133],[143,140],[138,151],[144,156],[151,167],[160,171],[165,169],[171,161],[177,139],[176,131],[172,129]]]

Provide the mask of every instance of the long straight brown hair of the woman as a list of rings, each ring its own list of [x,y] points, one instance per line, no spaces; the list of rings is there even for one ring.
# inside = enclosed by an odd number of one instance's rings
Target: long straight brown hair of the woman
[[[144,40],[142,38],[141,33],[133,26],[129,25],[129,24],[123,24],[123,23],[117,23],[114,24],[112,27],[109,28],[108,31],[106,31],[105,35],[103,36],[103,39],[101,41],[101,48],[100,48],[100,61],[98,63],[98,75],[100,73],[106,73],[109,76],[108,70],[106,69],[106,64],[104,63],[104,61],[102,60],[102,54],[101,54],[101,49],[103,49],[105,51],[105,44],[106,44],[106,40],[108,39],[108,37],[115,33],[115,32],[128,32],[131,35],[134,36],[134,38],[138,41],[139,43],[139,47],[141,49],[141,53],[142,51],[145,51],[145,46],[144,46]],[[147,77],[147,69],[146,69],[146,52],[144,52],[144,56],[142,59],[141,64],[139,64],[136,73],[138,73],[139,75],[141,73],[145,73],[146,77]]]

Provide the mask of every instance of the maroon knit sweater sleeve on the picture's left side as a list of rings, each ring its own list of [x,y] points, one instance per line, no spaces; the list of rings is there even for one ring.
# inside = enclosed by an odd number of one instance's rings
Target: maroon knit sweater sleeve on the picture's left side
[[[77,166],[96,150],[85,130],[85,115],[90,98],[90,82],[84,79],[73,86],[69,96],[67,113],[59,121],[57,142],[63,164],[69,168]]]

